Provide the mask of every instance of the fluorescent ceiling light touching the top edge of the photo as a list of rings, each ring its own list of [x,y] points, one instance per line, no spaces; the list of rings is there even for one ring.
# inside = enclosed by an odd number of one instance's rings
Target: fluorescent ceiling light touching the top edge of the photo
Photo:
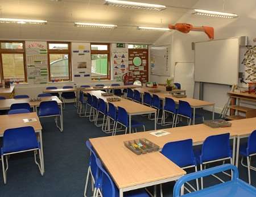
[[[156,10],[156,11],[161,11],[166,9],[166,6],[163,6],[163,5],[156,5],[151,3],[139,3],[139,2],[132,2],[132,1],[119,1],[119,0],[105,0],[105,5],[143,9],[143,10]]]

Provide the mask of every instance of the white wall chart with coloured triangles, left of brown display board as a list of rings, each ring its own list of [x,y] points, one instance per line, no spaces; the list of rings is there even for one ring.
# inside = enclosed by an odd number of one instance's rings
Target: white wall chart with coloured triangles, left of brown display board
[[[112,44],[113,79],[123,82],[128,73],[128,44]]]

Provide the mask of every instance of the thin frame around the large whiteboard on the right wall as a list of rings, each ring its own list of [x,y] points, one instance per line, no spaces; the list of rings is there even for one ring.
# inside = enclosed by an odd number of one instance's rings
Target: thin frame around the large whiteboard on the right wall
[[[195,82],[203,82],[203,83],[212,83],[212,82],[207,82],[207,81],[196,81],[196,43],[207,43],[207,42],[211,42],[211,41],[217,41],[217,40],[230,40],[230,39],[238,39],[238,57],[237,57],[237,83],[238,84],[238,73],[239,73],[239,64],[240,64],[240,47],[241,47],[241,36],[237,36],[237,37],[228,37],[228,38],[222,38],[222,39],[214,39],[214,40],[207,40],[207,41],[197,41],[195,42],[195,49],[194,51],[194,62],[195,62],[195,72],[194,72],[194,80]],[[212,83],[212,84],[219,84],[219,85],[228,85],[228,86],[232,86],[230,84],[224,84],[224,83]]]

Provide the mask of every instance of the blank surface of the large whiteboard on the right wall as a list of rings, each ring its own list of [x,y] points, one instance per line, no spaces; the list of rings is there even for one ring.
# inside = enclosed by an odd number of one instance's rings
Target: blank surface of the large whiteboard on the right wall
[[[195,81],[238,83],[239,37],[195,43]]]

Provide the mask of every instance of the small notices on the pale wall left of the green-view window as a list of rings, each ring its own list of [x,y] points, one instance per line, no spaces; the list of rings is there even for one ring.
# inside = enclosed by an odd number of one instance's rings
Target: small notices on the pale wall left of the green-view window
[[[72,43],[72,66],[75,82],[90,82],[92,72],[90,43]]]

